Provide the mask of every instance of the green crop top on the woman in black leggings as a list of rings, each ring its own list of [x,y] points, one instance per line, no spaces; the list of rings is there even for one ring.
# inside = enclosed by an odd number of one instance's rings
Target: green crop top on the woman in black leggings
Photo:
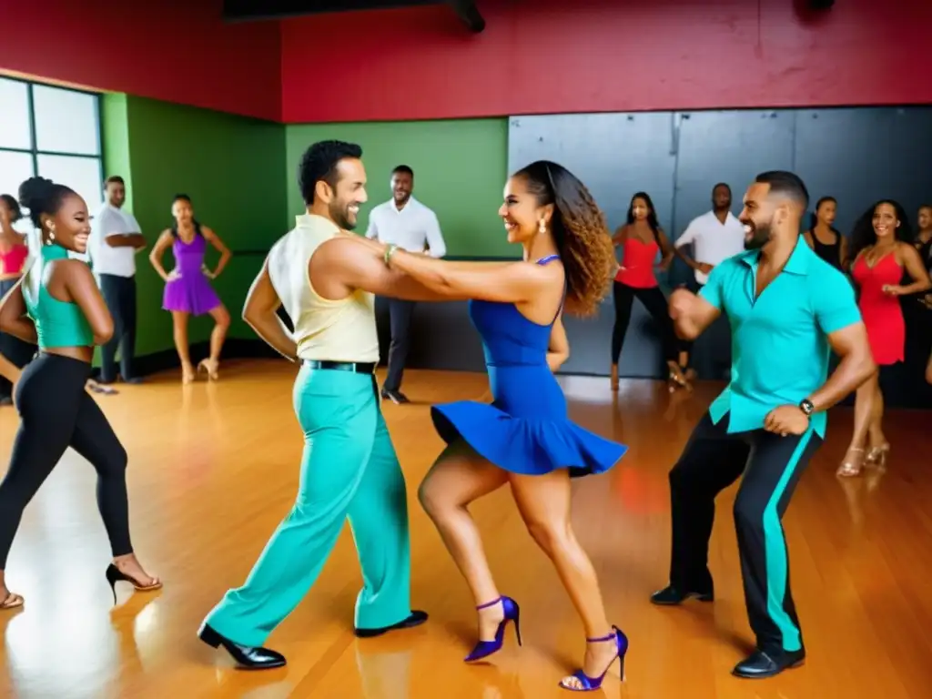
[[[68,259],[68,251],[60,245],[43,245],[41,260],[22,281],[22,298],[26,302],[29,317],[35,323],[35,335],[39,349],[57,347],[93,347],[94,333],[81,308],[70,301],[60,301],[48,293],[42,279],[42,267],[51,260]],[[38,297],[33,298],[33,274],[40,275]]]

